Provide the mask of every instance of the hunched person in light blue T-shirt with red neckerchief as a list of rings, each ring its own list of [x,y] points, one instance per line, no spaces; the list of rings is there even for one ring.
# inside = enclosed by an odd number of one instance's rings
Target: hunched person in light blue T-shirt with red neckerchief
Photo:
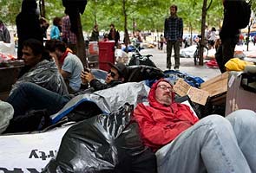
[[[67,82],[69,93],[77,92],[81,86],[82,61],[67,48],[65,42],[49,40],[45,48],[56,62],[60,74]]]

